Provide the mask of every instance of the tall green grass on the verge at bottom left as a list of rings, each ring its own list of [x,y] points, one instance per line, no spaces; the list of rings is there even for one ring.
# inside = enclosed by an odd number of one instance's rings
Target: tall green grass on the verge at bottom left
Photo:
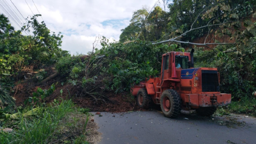
[[[55,101],[47,107],[37,107],[36,111],[27,107],[13,114],[15,117],[2,119],[3,129],[13,131],[0,130],[0,143],[88,143],[88,111],[76,108],[71,100]]]

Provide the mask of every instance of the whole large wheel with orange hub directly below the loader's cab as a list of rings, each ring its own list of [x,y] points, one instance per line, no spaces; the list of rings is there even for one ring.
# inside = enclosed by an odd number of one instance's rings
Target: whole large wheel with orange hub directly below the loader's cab
[[[165,90],[161,95],[160,105],[165,117],[177,117],[182,105],[180,95],[175,90]]]

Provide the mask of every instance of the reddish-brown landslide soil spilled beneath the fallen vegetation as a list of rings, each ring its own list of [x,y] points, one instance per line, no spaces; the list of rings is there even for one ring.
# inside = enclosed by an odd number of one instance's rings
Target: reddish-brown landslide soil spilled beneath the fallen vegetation
[[[47,67],[44,68],[47,71],[47,75],[50,76],[56,71]],[[28,73],[28,72],[26,72]],[[26,74],[26,73],[22,73]],[[33,71],[29,71],[33,73]],[[21,76],[22,77],[22,76]],[[28,77],[28,76],[27,76]],[[36,92],[38,87],[41,89],[50,89],[51,85],[55,84],[55,91],[50,97],[45,99],[46,103],[54,101],[54,99],[72,99],[73,102],[83,108],[90,108],[91,111],[111,111],[111,112],[124,112],[133,110],[142,110],[135,103],[135,99],[129,96],[129,92],[122,94],[115,94],[114,92],[105,92],[104,98],[97,101],[90,95],[84,95],[81,92],[80,86],[73,86],[63,81],[64,78],[56,77],[49,82],[39,84],[39,81],[35,78],[35,74],[29,75],[28,79],[22,78],[17,81],[16,86],[13,89],[13,97],[16,99],[17,106],[24,106],[24,101],[28,97],[33,97],[33,92]],[[62,84],[63,85],[62,85]],[[60,93],[62,90],[62,95]]]

